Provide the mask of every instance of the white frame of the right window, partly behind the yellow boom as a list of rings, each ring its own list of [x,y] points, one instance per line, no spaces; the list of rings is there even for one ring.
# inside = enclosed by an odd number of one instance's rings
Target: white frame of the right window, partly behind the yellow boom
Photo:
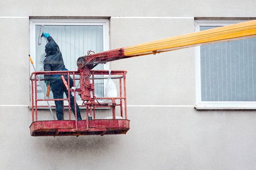
[[[198,19],[194,21],[194,32],[200,31],[200,26],[227,26],[250,20],[215,20]],[[196,109],[256,109],[255,101],[202,101],[201,100],[201,60],[200,46],[195,47],[196,74]]]

